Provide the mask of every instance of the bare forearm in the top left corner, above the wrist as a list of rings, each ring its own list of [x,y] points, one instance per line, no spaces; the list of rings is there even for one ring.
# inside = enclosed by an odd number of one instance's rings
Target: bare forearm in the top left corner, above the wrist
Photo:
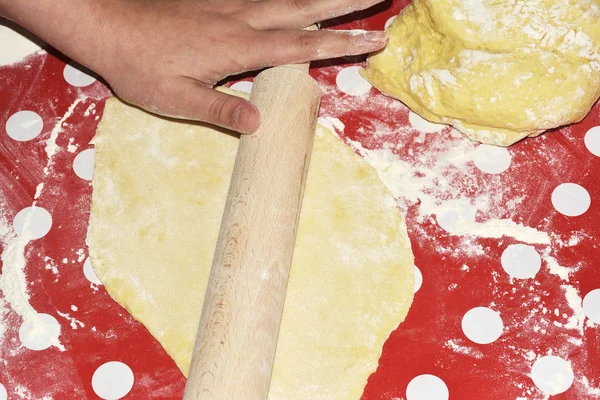
[[[123,0],[0,0],[0,16],[26,28],[54,48],[97,72],[103,40]]]

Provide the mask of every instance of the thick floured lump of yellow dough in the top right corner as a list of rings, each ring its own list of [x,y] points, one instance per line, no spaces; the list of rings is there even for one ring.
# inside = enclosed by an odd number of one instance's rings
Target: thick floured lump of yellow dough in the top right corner
[[[422,117],[507,146],[600,96],[599,0],[415,0],[364,76]]]

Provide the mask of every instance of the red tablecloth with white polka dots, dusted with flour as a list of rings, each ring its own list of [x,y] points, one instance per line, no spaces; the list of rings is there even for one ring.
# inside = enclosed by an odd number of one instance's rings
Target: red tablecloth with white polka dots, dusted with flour
[[[381,29],[406,3],[339,27]],[[0,302],[0,399],[181,398],[173,361],[91,268],[89,142],[110,92],[55,54],[0,63],[3,299],[22,278],[20,311],[39,313],[24,322]],[[363,399],[600,398],[600,107],[508,149],[478,145],[382,96],[363,60],[337,61],[312,70],[321,122],[397,197],[416,264]]]

